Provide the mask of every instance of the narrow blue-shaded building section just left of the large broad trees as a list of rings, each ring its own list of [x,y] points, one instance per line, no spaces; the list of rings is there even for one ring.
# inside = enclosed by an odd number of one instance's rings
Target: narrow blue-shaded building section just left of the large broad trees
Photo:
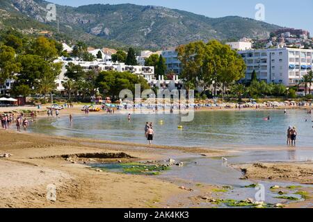
[[[175,48],[162,51],[162,56],[166,59],[167,71],[173,71],[175,74],[181,74],[182,62],[178,60],[178,53]]]

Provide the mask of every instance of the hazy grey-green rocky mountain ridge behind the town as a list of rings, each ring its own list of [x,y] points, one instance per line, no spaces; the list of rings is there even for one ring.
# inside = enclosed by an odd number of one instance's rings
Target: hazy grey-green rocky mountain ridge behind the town
[[[8,4],[8,0],[2,1],[7,2],[7,8],[11,6],[11,10],[18,10],[24,16],[56,28],[56,22],[48,22],[45,18],[45,6],[49,2],[10,0],[11,4]],[[119,42],[146,49],[164,49],[196,40],[264,38],[281,28],[239,16],[211,18],[184,10],[131,3],[79,7],[56,4],[56,10],[61,33],[75,33],[89,38],[93,36],[107,43]]]

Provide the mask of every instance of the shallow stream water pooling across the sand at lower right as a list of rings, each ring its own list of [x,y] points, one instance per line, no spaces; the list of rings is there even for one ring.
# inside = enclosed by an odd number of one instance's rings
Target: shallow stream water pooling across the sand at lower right
[[[236,157],[227,157],[227,162],[236,164],[241,161],[255,162],[256,160],[260,160],[259,157],[263,156],[264,159],[267,160],[266,155],[255,155],[253,152],[246,153],[244,156],[236,156]],[[281,198],[276,198],[280,196],[278,194],[278,190],[271,189],[272,186],[278,185],[280,187],[287,186],[303,186],[294,182],[275,182],[275,181],[258,181],[258,180],[240,180],[242,173],[231,167],[227,167],[227,162],[223,162],[223,160],[218,160],[217,158],[207,158],[207,157],[198,157],[198,158],[186,158],[180,159],[179,162],[184,162],[184,167],[174,167],[170,171],[166,171],[162,173],[158,178],[169,180],[171,182],[177,182],[181,180],[193,182],[193,184],[207,184],[207,185],[219,185],[219,186],[230,186],[231,189],[226,189],[221,192],[214,192],[214,198],[223,198],[232,199],[232,200],[245,200],[247,198],[256,199],[257,191],[259,188],[257,187],[248,187],[251,184],[260,184],[264,186],[264,203],[275,204],[275,203],[291,203],[294,202],[292,200],[286,200]],[[305,185],[305,187],[313,187],[311,185]],[[195,189],[197,189],[195,187]],[[289,191],[284,196],[295,197],[298,201],[303,201],[300,195],[294,194],[296,190]],[[196,196],[196,193],[193,194]],[[170,200],[170,203],[177,203],[177,201],[181,200],[181,198],[174,198]],[[313,203],[308,203],[307,207],[312,207]],[[225,204],[221,203],[220,205],[212,205],[211,203],[200,203],[200,205],[189,206],[189,207],[227,207]]]

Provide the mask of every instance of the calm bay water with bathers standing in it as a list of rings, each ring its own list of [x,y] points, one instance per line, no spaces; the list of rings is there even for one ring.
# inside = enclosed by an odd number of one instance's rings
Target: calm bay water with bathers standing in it
[[[264,117],[271,116],[271,121]],[[311,123],[305,122],[306,112],[291,110],[195,112],[191,122],[181,122],[178,114],[99,114],[75,117],[72,124],[67,117],[40,119],[31,126],[36,133],[88,137],[123,142],[146,143],[146,122],[154,125],[154,144],[172,146],[282,146],[286,142],[288,126],[298,130],[297,147],[313,144]],[[177,128],[183,126],[183,129]]]

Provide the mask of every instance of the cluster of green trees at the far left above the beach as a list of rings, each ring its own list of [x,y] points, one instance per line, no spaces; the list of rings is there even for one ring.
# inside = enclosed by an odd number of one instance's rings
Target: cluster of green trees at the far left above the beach
[[[14,79],[12,94],[27,96],[31,93],[46,96],[56,88],[56,77],[61,63],[54,60],[63,46],[55,40],[40,36],[26,37],[15,31],[0,35],[0,84]]]

